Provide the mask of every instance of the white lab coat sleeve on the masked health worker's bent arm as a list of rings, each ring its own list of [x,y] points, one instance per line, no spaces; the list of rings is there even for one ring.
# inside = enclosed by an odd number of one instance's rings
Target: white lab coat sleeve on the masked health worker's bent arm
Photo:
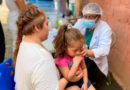
[[[99,37],[99,45],[97,48],[92,49],[95,58],[106,56],[109,54],[111,42],[112,42],[112,31],[110,28],[103,29],[101,36]]]

